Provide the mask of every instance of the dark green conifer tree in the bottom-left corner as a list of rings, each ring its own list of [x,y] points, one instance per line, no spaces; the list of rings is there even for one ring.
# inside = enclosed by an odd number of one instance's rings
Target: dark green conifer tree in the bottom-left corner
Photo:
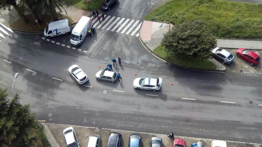
[[[20,96],[7,98],[7,89],[0,87],[0,146],[31,146],[37,140],[33,136],[35,114],[29,105],[19,103]]]

